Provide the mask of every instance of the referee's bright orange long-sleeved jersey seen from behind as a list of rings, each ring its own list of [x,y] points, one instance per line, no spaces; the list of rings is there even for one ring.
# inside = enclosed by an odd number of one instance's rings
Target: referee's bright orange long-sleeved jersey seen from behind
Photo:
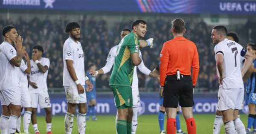
[[[190,75],[192,66],[192,82],[195,86],[199,73],[199,58],[195,43],[184,38],[175,37],[163,44],[160,53],[160,86],[165,85],[166,75]]]

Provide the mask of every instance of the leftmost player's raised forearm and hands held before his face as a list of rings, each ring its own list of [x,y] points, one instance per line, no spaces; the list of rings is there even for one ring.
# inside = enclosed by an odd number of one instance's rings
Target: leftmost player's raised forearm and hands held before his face
[[[21,59],[24,55],[24,52],[21,51],[22,49],[22,41],[23,41],[23,38],[21,36],[18,36],[17,38],[17,42],[13,42],[14,45],[15,45],[15,48],[17,50],[17,56],[16,57],[13,57],[11,61],[11,63],[14,65],[14,66],[17,66],[17,67],[20,67],[21,65]]]

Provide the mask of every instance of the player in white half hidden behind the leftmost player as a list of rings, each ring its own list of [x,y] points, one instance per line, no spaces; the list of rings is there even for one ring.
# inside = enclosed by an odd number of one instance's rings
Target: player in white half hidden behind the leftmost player
[[[31,114],[32,114],[32,106],[31,106],[31,97],[29,93],[29,88],[28,88],[28,79],[27,79],[27,74],[30,74],[31,72],[31,66],[30,66],[30,60],[29,60],[29,54],[26,53],[26,47],[22,47],[22,51],[24,52],[24,58],[27,61],[27,65],[25,64],[24,60],[22,59],[21,65],[17,69],[17,74],[19,76],[19,81],[20,81],[20,91],[21,91],[21,107],[25,109],[25,113],[23,116],[23,130],[24,134],[29,133],[29,124],[31,120]],[[21,111],[22,111],[21,108]],[[18,118],[17,121],[17,129],[16,133],[20,133],[20,120],[21,116]]]

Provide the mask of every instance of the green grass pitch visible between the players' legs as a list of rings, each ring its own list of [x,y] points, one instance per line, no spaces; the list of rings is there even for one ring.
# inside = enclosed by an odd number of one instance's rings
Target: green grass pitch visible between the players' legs
[[[244,125],[247,125],[247,115],[241,114],[241,120]],[[214,114],[195,114],[195,122],[197,125],[197,134],[212,134],[212,126],[215,119]],[[86,122],[86,134],[115,134],[115,116],[105,115],[97,116],[98,121]],[[38,128],[41,134],[46,134],[46,124],[43,116],[37,117]],[[166,122],[166,120],[165,120]],[[78,134],[76,125],[76,117],[74,119],[73,133]],[[180,125],[184,132],[186,132],[186,123],[183,116],[180,116]],[[23,128],[21,127],[23,130]],[[165,123],[166,129],[166,123]],[[157,115],[141,115],[138,117],[137,134],[159,134],[159,126]],[[29,127],[29,132],[34,134],[32,125]],[[52,117],[52,133],[65,134],[64,131],[64,116]],[[224,134],[224,127],[221,128],[221,133]]]

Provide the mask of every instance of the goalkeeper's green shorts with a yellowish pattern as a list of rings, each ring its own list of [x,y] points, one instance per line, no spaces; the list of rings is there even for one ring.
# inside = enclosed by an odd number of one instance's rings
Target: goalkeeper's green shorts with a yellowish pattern
[[[129,86],[114,86],[111,85],[110,88],[114,93],[116,108],[132,108],[132,91]]]

